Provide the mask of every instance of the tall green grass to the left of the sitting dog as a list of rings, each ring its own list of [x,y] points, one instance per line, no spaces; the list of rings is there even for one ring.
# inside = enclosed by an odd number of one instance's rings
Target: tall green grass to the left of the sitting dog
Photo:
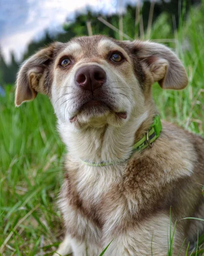
[[[14,108],[13,93],[8,87],[0,104],[0,245],[13,232],[5,255],[16,250],[14,255],[31,256],[43,239],[48,251],[55,249],[62,234],[55,201],[64,146],[48,99],[39,95]]]

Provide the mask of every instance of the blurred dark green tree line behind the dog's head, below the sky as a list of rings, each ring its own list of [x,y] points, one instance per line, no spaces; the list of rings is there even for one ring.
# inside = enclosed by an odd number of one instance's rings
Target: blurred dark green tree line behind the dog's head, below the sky
[[[75,21],[63,25],[63,33],[52,36],[49,32],[45,32],[44,37],[39,41],[30,42],[20,61],[17,61],[14,53],[11,52],[11,62],[6,64],[0,52],[0,85],[4,87],[6,84],[14,84],[20,63],[36,52],[37,49],[48,45],[52,41],[66,42],[75,36],[91,34],[103,34],[116,39],[127,39],[123,36],[121,38],[117,31],[117,29],[121,29],[120,22],[123,24],[124,34],[129,38],[144,38],[144,35],[148,32],[147,30],[151,29],[149,24],[151,26],[157,24],[161,38],[171,38],[179,23],[186,19],[190,6],[199,2],[200,0],[161,0],[160,2],[146,0],[140,7],[127,5],[126,12],[123,15],[102,16],[100,13],[91,12],[89,9],[87,9],[86,14],[76,13]],[[156,23],[158,16],[161,17],[161,15],[163,15],[163,19],[160,19],[162,21]],[[101,19],[98,19],[98,17],[101,17]],[[104,20],[106,24],[104,24]],[[109,27],[109,24],[114,26],[115,30]],[[151,35],[151,38],[154,38],[154,35]]]

